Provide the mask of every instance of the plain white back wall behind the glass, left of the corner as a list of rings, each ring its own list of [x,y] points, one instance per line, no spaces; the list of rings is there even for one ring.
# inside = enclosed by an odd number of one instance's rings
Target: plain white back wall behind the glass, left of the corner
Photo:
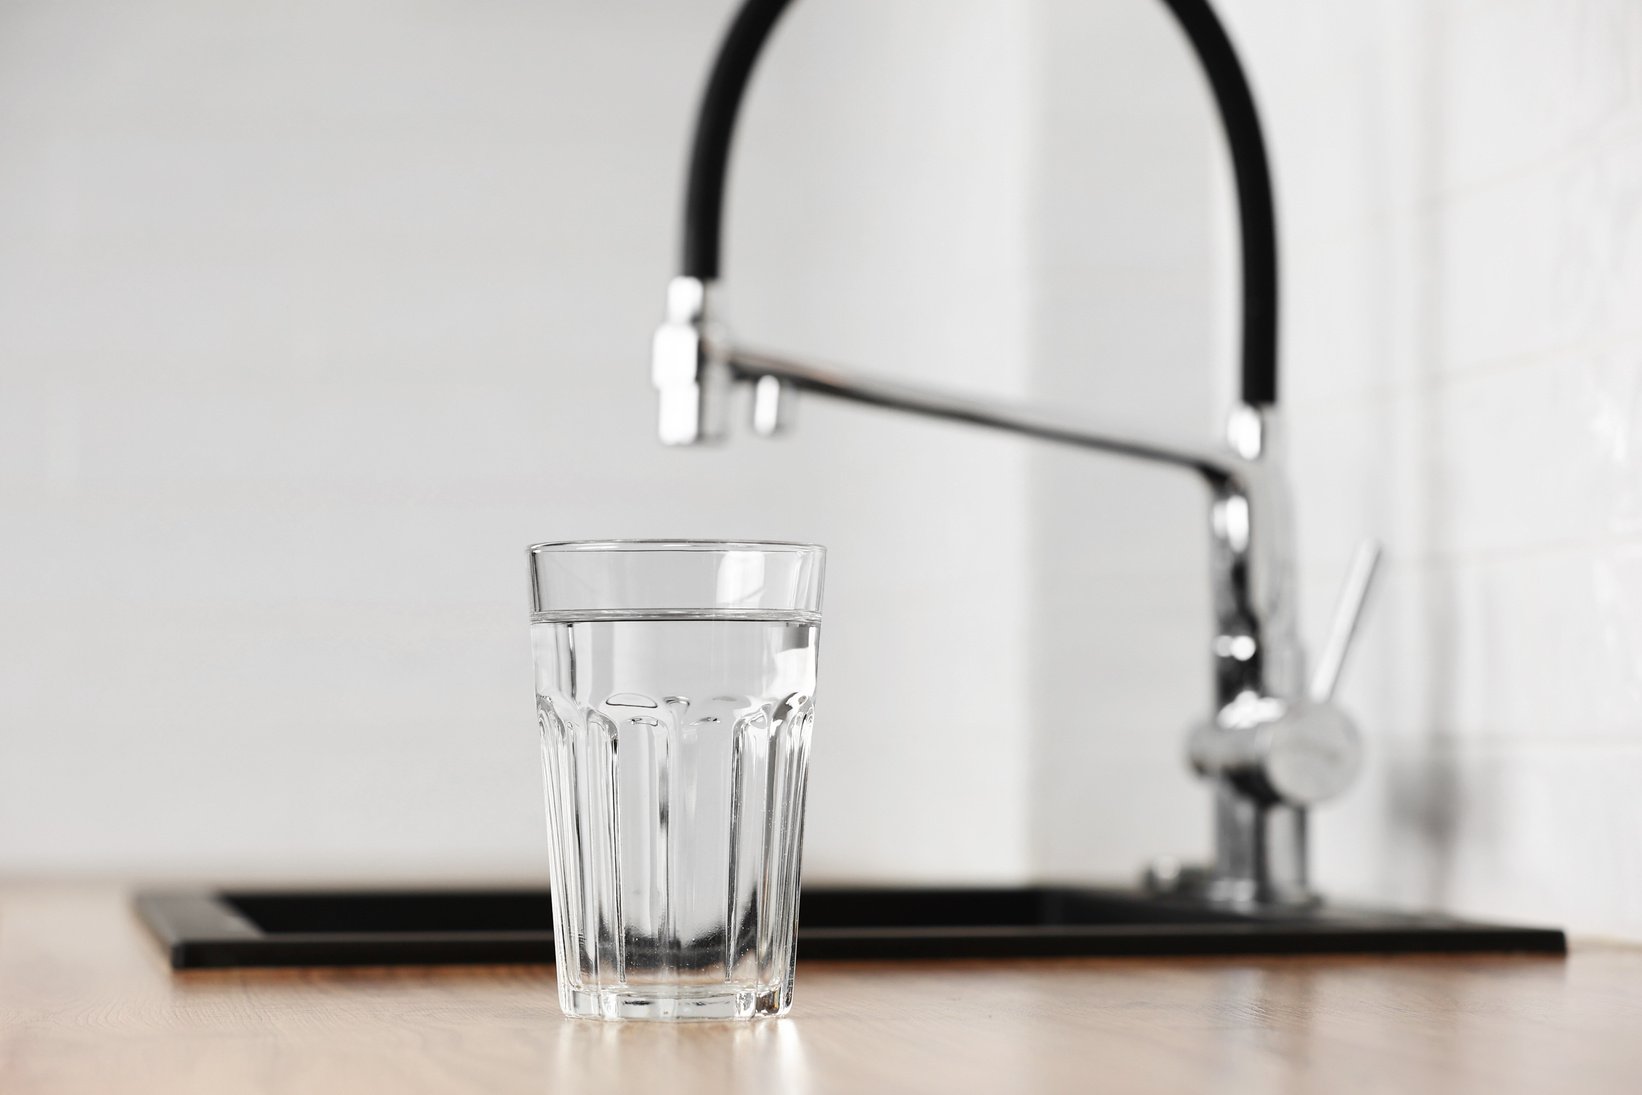
[[[811,877],[1025,870],[1025,455],[654,440],[729,7],[0,10],[0,872],[540,877],[522,548],[606,535],[832,547]],[[874,8],[772,51],[736,312],[1015,387],[1020,18]]]

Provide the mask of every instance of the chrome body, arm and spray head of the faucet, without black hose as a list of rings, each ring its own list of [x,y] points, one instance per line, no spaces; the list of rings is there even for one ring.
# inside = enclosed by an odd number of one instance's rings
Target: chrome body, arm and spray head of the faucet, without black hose
[[[1169,880],[1227,903],[1309,903],[1305,819],[1343,790],[1360,760],[1356,734],[1327,696],[1307,693],[1296,629],[1289,486],[1269,409],[1238,407],[1227,443],[1140,433],[1028,404],[980,401],[736,346],[709,322],[709,286],[677,277],[655,335],[660,437],[721,440],[732,386],[752,389],[757,433],[785,428],[798,392],[1149,460],[1195,471],[1209,488],[1215,712],[1190,757],[1215,783],[1215,860]],[[1351,612],[1355,622],[1355,611]],[[1343,657],[1343,653],[1342,653]],[[1330,681],[1332,691],[1332,681]]]

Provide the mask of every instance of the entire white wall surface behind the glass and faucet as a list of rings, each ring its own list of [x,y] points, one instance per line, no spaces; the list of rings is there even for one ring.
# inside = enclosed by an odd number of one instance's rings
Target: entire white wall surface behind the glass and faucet
[[[1264,107],[1317,635],[1389,545],[1330,890],[1642,936],[1642,8],[1225,0]],[[1197,486],[644,353],[729,0],[0,13],[0,872],[525,877],[521,547],[834,548],[811,877],[1200,854]],[[731,317],[1210,430],[1230,233],[1141,3],[798,5]]]

